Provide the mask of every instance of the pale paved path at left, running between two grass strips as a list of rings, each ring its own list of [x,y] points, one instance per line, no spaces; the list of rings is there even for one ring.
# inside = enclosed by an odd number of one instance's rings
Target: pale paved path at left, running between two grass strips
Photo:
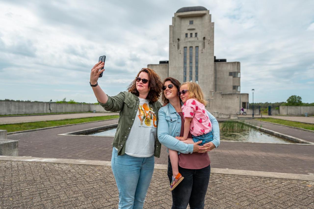
[[[25,123],[35,121],[54,121],[70,118],[87,118],[105,115],[118,115],[118,113],[75,113],[60,115],[30,115],[30,116],[0,117],[0,124]]]

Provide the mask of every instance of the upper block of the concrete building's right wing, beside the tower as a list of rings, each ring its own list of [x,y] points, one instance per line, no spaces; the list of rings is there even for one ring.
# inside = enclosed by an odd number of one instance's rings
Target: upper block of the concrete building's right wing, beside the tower
[[[233,86],[240,86],[240,78],[229,76],[229,72],[240,72],[240,62],[215,62],[214,90],[224,94],[237,93]]]

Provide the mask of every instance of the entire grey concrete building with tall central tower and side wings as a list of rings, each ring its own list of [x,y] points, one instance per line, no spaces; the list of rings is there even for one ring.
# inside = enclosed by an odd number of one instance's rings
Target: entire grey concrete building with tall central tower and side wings
[[[162,80],[173,77],[181,83],[198,83],[211,112],[236,114],[242,106],[248,107],[248,94],[240,94],[240,62],[215,59],[214,22],[204,7],[184,7],[174,14],[169,27],[169,64],[147,67]]]

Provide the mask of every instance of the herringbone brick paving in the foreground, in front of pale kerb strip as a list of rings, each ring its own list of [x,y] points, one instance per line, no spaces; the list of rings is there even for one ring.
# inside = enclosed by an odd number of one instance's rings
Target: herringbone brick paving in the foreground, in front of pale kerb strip
[[[166,170],[154,170],[144,208],[170,208]],[[205,208],[314,208],[314,181],[211,174]],[[117,208],[109,166],[0,161],[1,208]]]

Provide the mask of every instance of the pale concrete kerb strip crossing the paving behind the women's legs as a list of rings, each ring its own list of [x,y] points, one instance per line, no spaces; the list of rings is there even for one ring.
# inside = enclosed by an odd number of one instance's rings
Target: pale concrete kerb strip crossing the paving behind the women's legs
[[[64,163],[64,164],[80,164],[80,165],[95,165],[95,166],[111,166],[110,161],[78,160],[78,159],[62,159],[62,158],[36,158],[36,157],[29,157],[29,156],[23,156],[23,157],[0,156],[0,160],[38,162],[38,163]],[[167,167],[168,167],[167,165],[155,164],[154,169],[167,170]],[[290,173],[276,173],[276,172],[236,170],[236,169],[219,169],[219,168],[211,168],[211,173],[314,181],[314,175],[306,175],[306,174],[290,174]]]

